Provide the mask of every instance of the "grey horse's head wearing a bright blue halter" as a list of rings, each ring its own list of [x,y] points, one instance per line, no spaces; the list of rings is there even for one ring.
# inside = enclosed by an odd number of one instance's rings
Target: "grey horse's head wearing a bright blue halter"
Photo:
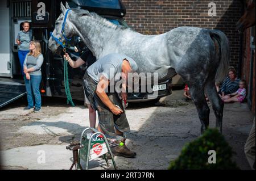
[[[67,2],[66,2],[66,7],[63,5],[62,2],[60,3],[61,14],[55,22],[55,28],[48,41],[48,47],[52,51],[57,50],[57,48],[61,45],[61,43],[64,43],[65,40],[67,40],[67,37],[72,37],[72,23],[70,23],[68,18],[68,14],[70,14],[70,12],[68,13],[69,9],[70,7],[68,6]],[[66,19],[65,19],[65,15],[67,16]],[[65,22],[64,22],[64,19],[65,19]]]

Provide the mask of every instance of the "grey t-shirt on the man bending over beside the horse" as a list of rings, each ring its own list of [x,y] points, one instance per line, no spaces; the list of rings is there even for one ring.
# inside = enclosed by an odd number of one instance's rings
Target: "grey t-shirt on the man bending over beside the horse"
[[[122,72],[122,63],[126,59],[129,61],[131,69],[136,71],[138,66],[133,58],[124,54],[111,53],[108,54],[92,64],[87,70],[87,74],[95,81],[99,82],[101,75],[104,75],[110,81],[116,78],[114,82],[119,81],[119,77],[115,77],[115,74]]]

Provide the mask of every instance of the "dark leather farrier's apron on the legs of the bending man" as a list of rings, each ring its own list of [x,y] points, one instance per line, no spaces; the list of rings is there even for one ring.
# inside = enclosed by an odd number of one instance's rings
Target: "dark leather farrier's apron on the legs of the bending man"
[[[125,134],[130,132],[130,126],[127,121],[125,112],[121,115],[114,115],[108,107],[102,103],[101,99],[96,94],[97,83],[85,73],[84,76],[84,91],[88,98],[90,105],[98,112],[98,120],[102,131],[107,136],[115,137],[115,129]],[[122,100],[119,99],[117,92],[106,93],[113,104],[122,108]]]

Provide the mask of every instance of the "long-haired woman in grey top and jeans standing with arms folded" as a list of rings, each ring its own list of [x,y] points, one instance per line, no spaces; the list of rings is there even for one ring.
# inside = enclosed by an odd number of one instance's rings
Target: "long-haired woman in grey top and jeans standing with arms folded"
[[[35,98],[34,112],[41,111],[41,95],[39,87],[42,80],[41,66],[43,61],[44,57],[41,54],[39,41],[31,41],[30,52],[27,54],[23,64],[23,72],[26,74],[26,78],[24,79],[28,102],[28,106],[24,108],[24,110],[30,110],[34,107],[33,98]]]

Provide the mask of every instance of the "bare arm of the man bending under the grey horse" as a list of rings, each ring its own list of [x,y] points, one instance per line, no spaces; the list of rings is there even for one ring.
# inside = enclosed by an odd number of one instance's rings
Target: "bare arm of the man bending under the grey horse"
[[[111,102],[111,100],[109,99],[108,95],[105,92],[108,86],[109,86],[109,80],[102,75],[97,85],[96,94],[101,99],[102,103],[104,103],[106,107],[110,109],[111,112],[113,112],[115,115],[120,115],[121,113],[123,113],[123,111],[120,110]]]

